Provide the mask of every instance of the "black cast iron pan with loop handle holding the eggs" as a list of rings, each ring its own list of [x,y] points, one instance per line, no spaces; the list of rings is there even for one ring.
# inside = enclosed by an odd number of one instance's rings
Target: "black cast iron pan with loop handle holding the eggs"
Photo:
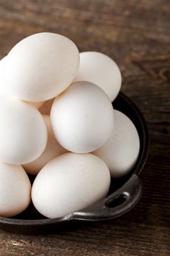
[[[113,179],[107,197],[88,208],[71,213],[62,218],[48,219],[37,213],[31,204],[27,210],[13,218],[0,217],[0,229],[20,234],[42,234],[68,229],[81,221],[106,221],[125,214],[140,199],[142,185],[139,179],[149,150],[149,136],[143,115],[135,104],[120,93],[112,103],[113,107],[126,114],[135,124],[140,137],[138,161],[130,173],[120,179]],[[32,177],[30,177],[32,179]],[[71,225],[71,226],[72,226]]]

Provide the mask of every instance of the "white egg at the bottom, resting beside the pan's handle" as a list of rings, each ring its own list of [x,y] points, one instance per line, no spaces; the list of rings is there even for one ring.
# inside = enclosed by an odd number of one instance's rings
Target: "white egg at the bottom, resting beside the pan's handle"
[[[35,178],[32,202],[48,218],[59,218],[107,195],[110,174],[95,155],[66,153],[50,161]]]

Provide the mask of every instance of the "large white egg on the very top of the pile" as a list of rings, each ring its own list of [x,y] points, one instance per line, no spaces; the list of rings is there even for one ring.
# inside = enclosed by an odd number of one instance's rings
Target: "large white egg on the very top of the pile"
[[[46,101],[71,84],[79,68],[79,51],[63,35],[37,33],[9,51],[4,66],[8,95],[23,101]]]

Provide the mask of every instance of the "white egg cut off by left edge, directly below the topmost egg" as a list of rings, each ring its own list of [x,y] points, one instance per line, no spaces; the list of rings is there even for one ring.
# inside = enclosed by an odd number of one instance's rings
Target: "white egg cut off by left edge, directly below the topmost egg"
[[[0,95],[0,161],[22,164],[38,158],[47,144],[40,112],[30,103]]]

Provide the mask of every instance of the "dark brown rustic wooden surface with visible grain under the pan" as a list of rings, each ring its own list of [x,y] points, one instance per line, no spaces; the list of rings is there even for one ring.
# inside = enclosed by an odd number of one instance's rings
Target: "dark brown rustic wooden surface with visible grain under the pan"
[[[0,231],[0,255],[170,255],[170,1],[0,1],[0,57],[40,31],[101,51],[122,71],[122,92],[143,112],[151,151],[143,196],[114,221],[44,236]]]

